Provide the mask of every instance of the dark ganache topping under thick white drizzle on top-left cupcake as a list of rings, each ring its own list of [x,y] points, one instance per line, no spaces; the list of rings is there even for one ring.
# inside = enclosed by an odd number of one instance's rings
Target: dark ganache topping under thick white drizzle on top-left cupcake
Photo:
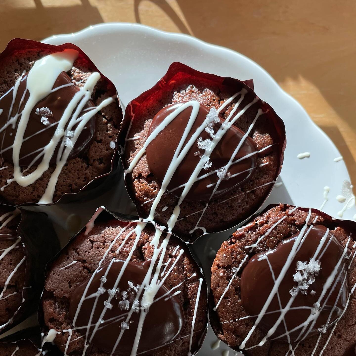
[[[17,127],[19,125],[19,117],[21,116],[21,111],[23,110],[28,98],[29,92],[27,89],[27,75],[28,72],[23,75],[18,88],[12,87],[6,94],[0,98],[0,109],[2,110],[0,115],[0,156],[3,157],[7,162],[12,163],[12,145],[14,143],[15,135],[17,132]],[[80,89],[72,83],[72,80],[66,72],[59,74],[56,82],[53,85],[52,92],[46,96],[45,99],[41,100],[33,108],[30,114],[30,120],[26,127],[24,139],[21,145],[20,160],[19,164],[21,167],[28,167],[32,161],[32,164],[38,164],[41,162],[41,157],[36,159],[38,153],[44,148],[54,135],[57,128],[57,123],[61,119],[64,111],[67,109],[70,101],[73,99],[74,95],[78,93]],[[14,97],[15,96],[15,97]],[[89,100],[83,106],[80,117],[86,110],[94,107],[94,103]],[[74,109],[74,108],[73,108]],[[1,130],[9,120],[16,117],[16,121],[8,125],[5,130]],[[69,120],[67,122],[67,125]],[[75,130],[78,124],[72,127],[72,130],[66,132],[66,137],[64,139],[73,137],[70,131]],[[82,130],[78,136],[78,140],[70,152],[69,159],[77,157],[81,152],[83,152],[91,142],[95,133],[95,115],[91,117],[85,128]],[[55,164],[57,160],[57,153],[59,150],[59,145],[56,147],[54,154],[49,161],[49,164]]]

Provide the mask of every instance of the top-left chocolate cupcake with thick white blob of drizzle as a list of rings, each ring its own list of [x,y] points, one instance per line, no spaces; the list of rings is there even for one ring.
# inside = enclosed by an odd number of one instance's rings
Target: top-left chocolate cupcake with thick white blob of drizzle
[[[0,63],[0,196],[53,203],[108,174],[122,112],[85,53],[16,38]]]

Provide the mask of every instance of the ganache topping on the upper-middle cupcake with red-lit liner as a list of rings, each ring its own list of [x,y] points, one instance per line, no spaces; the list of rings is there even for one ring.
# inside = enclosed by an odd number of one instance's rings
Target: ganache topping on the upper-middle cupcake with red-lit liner
[[[153,117],[148,130],[148,137],[150,137],[157,127],[162,126],[163,121],[168,116],[173,116],[173,120],[159,131],[157,136],[147,146],[147,163],[157,181],[162,184],[168,172],[168,167],[174,159],[179,142],[182,137],[185,137],[180,152],[185,148],[188,148],[188,151],[185,153],[183,161],[179,164],[167,186],[168,191],[172,191],[174,195],[179,197],[184,187],[177,188],[188,182],[199,164],[200,157],[204,152],[211,150],[209,160],[205,162],[204,167],[198,174],[197,180],[185,197],[186,200],[190,201],[208,200],[219,178],[223,180],[221,180],[218,189],[214,193],[214,197],[218,197],[241,185],[250,177],[253,169],[256,167],[257,148],[255,142],[249,136],[244,138],[244,142],[241,142],[245,133],[234,125],[227,129],[216,146],[212,147],[212,141],[218,138],[216,133],[226,123],[224,123],[224,120],[218,115],[215,109],[211,109],[209,112],[206,106],[200,104],[194,123],[191,129],[188,130],[188,121],[190,116],[194,115],[193,107],[187,106],[187,108],[175,114],[175,111],[179,111],[180,106],[185,103],[188,102],[182,101],[169,105]],[[189,148],[188,141],[193,136],[195,136],[195,140]],[[239,145],[241,147],[235,153]],[[247,157],[243,158],[245,156]],[[233,158],[232,162],[234,163],[228,169],[224,169],[223,167],[226,166],[231,158]]]

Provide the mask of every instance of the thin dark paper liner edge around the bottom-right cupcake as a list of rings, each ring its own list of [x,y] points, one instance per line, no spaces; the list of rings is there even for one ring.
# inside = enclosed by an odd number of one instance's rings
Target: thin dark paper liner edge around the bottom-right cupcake
[[[282,203],[281,203],[282,204]],[[259,213],[256,213],[255,215],[253,215],[248,221],[245,222],[245,225],[250,224],[253,220],[255,220],[257,218],[257,216],[263,215],[265,214],[268,210],[278,206],[280,204],[270,204],[268,205],[264,210],[260,211]],[[305,212],[309,211],[309,208],[305,208],[305,207],[296,207],[294,205],[290,205],[290,204],[282,204],[284,206],[288,206],[290,208],[297,208],[298,210],[302,210]],[[312,211],[312,213],[315,213],[317,215],[319,215],[321,218],[324,219],[324,223],[327,222],[325,225],[327,227],[329,227],[330,230],[333,230],[334,227],[336,226],[340,226],[342,229],[344,229],[346,231],[346,233],[348,235],[350,235],[350,232],[353,232],[353,235],[356,235],[356,221],[352,221],[352,220],[342,220],[342,219],[335,219],[332,216],[324,213],[323,211],[320,211],[318,209],[310,209]],[[334,227],[333,227],[334,226]],[[243,227],[243,226],[242,226]],[[233,236],[230,236],[228,240],[232,239]],[[227,241],[228,241],[227,240]],[[239,273],[239,275],[241,276],[243,269],[241,269],[241,272]],[[209,300],[208,300],[208,305],[209,305],[209,321],[210,321],[210,325],[213,328],[213,331],[216,335],[216,337],[218,337],[219,339],[219,333],[221,332],[221,328],[220,328],[220,322],[219,322],[219,316],[218,313],[216,313],[214,311],[214,307],[215,307],[215,301],[214,301],[214,296],[213,296],[213,292],[209,292]],[[221,340],[221,339],[220,339]],[[223,342],[225,342],[224,340],[221,340]],[[226,345],[228,345],[229,347],[231,347],[231,349],[241,352],[241,354],[243,354],[244,350],[240,350],[239,347],[233,347],[231,345],[229,345],[227,342],[225,342]]]

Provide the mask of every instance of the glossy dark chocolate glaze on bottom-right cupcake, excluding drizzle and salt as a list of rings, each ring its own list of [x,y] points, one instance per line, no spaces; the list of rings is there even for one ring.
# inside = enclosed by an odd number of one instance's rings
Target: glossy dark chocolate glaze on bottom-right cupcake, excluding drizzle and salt
[[[295,257],[292,260],[292,264],[285,274],[282,283],[278,288],[279,297],[281,299],[282,307],[286,307],[292,295],[289,291],[293,287],[297,287],[298,283],[294,282],[293,275],[297,272],[296,265],[297,261],[309,262],[309,259],[313,257],[316,249],[321,243],[321,239],[326,233],[326,227],[322,225],[314,226],[305,237],[303,244],[300,246],[299,251],[297,251]],[[242,304],[246,312],[250,316],[259,315],[263,305],[265,304],[269,294],[274,287],[274,281],[272,278],[271,269],[268,265],[266,256],[271,264],[274,276],[277,279],[282,267],[287,261],[287,257],[293,247],[296,236],[290,237],[286,240],[283,240],[278,244],[274,250],[269,250],[266,253],[259,253],[253,256],[248,262],[247,266],[244,268],[241,276],[241,299]],[[314,308],[314,303],[318,302],[318,299],[323,290],[324,284],[326,283],[327,278],[333,272],[333,269],[337,265],[344,247],[340,242],[330,233],[326,236],[325,241],[323,242],[323,247],[320,250],[321,252],[316,257],[316,260],[320,261],[321,269],[318,274],[315,274],[315,282],[310,284],[307,289],[306,295],[301,293],[299,290],[297,296],[295,297],[291,308],[285,315],[285,321],[287,330],[293,330],[298,327],[300,324],[304,323],[309,317],[312,308]],[[324,251],[324,253],[323,253]],[[321,255],[321,257],[320,257]],[[260,258],[263,258],[259,261]],[[320,302],[320,306],[326,302],[325,306],[322,307],[320,315],[316,319],[316,323],[313,328],[306,335],[305,333],[309,330],[309,326],[306,331],[302,334],[304,336],[312,336],[318,333],[317,329],[324,328],[331,310],[335,309],[331,314],[330,321],[326,328],[329,328],[333,325],[341,316],[342,310],[344,309],[347,298],[349,296],[349,290],[347,287],[347,281],[343,283],[346,277],[347,267],[345,266],[345,259],[341,262],[341,265],[337,271],[336,277],[331,284],[331,287],[327,290],[325,296]],[[336,284],[334,285],[334,283]],[[315,291],[315,294],[310,293]],[[330,296],[329,296],[330,293]],[[340,295],[339,295],[340,293]],[[329,297],[328,297],[329,296]],[[301,309],[304,308],[304,309]],[[305,309],[308,308],[308,309]],[[278,317],[281,315],[279,312],[280,306],[278,303],[277,295],[274,295],[274,298],[269,305],[267,312],[263,315],[258,328],[261,329],[264,333],[267,333],[269,329],[276,323]],[[275,313],[270,313],[276,311]],[[256,318],[252,318],[256,320]],[[302,331],[302,328],[289,333],[290,341],[295,341],[298,338],[298,335]],[[283,321],[278,325],[274,334],[270,337],[271,339],[276,338],[282,334],[286,333],[286,329],[283,325]],[[278,338],[279,341],[287,341],[287,337],[283,336]],[[298,339],[300,340],[300,338]]]

